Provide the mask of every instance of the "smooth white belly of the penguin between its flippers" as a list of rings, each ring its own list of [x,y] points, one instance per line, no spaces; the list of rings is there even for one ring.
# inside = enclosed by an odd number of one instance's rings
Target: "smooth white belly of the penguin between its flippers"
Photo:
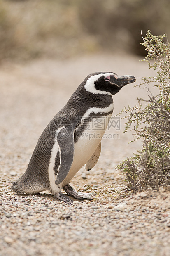
[[[105,133],[111,116],[112,114],[100,118],[93,118],[93,120],[88,123],[83,134],[75,143],[75,154],[72,167],[65,180],[63,180],[62,186],[68,184],[79,169],[91,158]]]

